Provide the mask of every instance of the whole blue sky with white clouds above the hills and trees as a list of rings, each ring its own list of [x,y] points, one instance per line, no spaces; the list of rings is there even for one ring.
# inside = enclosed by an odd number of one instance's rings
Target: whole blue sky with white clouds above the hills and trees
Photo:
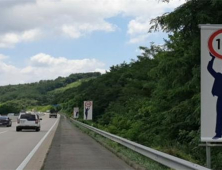
[[[150,20],[185,0],[0,0],[0,86],[109,71],[163,44]]]

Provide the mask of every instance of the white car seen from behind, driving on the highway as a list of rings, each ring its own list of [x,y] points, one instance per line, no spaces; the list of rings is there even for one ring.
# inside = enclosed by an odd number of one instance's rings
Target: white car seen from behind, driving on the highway
[[[17,119],[16,131],[21,131],[22,129],[34,129],[37,132],[40,131],[39,115],[36,113],[20,113]]]

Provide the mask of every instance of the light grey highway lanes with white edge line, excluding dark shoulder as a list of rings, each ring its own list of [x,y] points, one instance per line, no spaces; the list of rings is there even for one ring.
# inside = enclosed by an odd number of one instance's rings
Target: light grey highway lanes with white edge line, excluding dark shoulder
[[[57,119],[59,119],[49,118],[48,114],[41,118],[40,132],[33,130],[16,132],[14,121],[12,127],[0,127],[0,170],[19,170],[29,163],[32,155],[35,154],[34,150],[38,149],[38,145],[41,146],[40,142],[43,139],[47,140],[46,134],[48,136],[49,130],[55,130]]]

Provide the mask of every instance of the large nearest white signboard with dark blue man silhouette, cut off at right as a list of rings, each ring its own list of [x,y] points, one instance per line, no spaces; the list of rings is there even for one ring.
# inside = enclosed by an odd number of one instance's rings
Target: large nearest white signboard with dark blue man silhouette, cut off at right
[[[222,142],[222,25],[201,28],[201,141]]]

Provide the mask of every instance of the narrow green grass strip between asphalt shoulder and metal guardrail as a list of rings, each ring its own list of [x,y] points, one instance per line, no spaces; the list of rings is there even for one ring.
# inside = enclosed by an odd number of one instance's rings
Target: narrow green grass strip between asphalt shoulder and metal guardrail
[[[118,157],[123,159],[126,163],[128,163],[131,167],[135,168],[136,170],[170,170],[170,168],[165,167],[137,152],[134,152],[125,146],[122,146],[116,142],[111,141],[95,132],[84,128],[80,125],[75,124],[71,121],[71,123],[78,127],[81,131],[91,136],[97,142],[105,146],[107,149],[112,151]]]

